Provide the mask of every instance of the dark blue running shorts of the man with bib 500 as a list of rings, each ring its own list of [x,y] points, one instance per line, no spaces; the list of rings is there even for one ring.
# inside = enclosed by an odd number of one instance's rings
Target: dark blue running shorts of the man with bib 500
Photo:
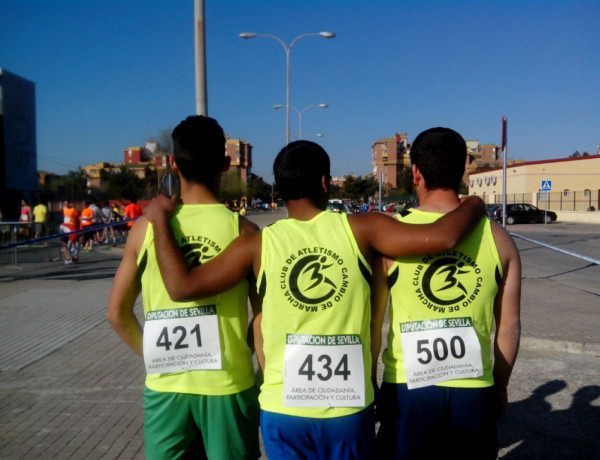
[[[429,386],[409,390],[384,382],[379,395],[379,458],[496,459],[499,401],[494,387]]]

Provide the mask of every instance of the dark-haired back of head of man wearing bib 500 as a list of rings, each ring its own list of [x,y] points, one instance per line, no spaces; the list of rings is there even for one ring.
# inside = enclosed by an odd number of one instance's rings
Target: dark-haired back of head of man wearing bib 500
[[[419,168],[428,190],[458,192],[465,172],[467,144],[449,128],[431,128],[419,134],[410,148],[410,161]]]

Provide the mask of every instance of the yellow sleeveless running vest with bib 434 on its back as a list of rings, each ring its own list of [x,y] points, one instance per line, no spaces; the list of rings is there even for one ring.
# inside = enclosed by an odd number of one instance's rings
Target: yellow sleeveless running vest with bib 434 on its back
[[[345,214],[263,229],[261,409],[330,418],[372,403],[370,279]]]

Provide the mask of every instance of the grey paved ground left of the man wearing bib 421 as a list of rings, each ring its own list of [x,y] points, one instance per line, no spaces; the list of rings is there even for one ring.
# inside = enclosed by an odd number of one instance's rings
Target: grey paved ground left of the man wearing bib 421
[[[119,258],[0,267],[0,458],[144,458],[143,365],[105,320]]]

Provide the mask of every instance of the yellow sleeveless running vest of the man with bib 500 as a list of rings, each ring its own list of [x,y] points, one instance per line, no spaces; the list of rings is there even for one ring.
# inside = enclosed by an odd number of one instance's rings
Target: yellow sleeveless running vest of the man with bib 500
[[[443,214],[413,209],[397,219],[411,224],[434,222]],[[480,388],[492,386],[494,301],[502,280],[502,264],[492,235],[490,221],[482,219],[477,228],[456,248],[437,255],[414,256],[396,260],[388,271],[390,285],[390,330],[383,352],[383,380],[407,383],[405,356],[429,363],[436,360],[432,373],[449,375],[439,386]],[[403,337],[409,340],[415,331],[437,325],[474,328],[481,347],[483,375],[452,379],[460,364],[449,365],[452,355],[462,357],[460,340],[424,335],[416,346],[403,349]],[[404,335],[403,335],[404,333]],[[443,333],[442,333],[443,334]],[[423,376],[422,378],[426,378]],[[418,374],[412,374],[418,381]],[[424,385],[425,386],[425,385]]]

